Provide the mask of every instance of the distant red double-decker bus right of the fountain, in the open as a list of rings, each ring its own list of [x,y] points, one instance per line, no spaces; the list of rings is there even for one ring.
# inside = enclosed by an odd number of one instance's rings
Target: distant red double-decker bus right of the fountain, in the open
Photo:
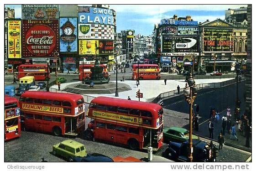
[[[132,79],[138,78],[138,65],[132,66]],[[156,79],[160,80],[160,70],[157,64],[139,64],[139,79]]]

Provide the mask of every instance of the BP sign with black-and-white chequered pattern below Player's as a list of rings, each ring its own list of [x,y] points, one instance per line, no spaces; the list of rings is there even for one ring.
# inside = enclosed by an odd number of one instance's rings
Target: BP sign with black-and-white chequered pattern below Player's
[[[78,39],[114,40],[114,26],[104,24],[78,24]]]

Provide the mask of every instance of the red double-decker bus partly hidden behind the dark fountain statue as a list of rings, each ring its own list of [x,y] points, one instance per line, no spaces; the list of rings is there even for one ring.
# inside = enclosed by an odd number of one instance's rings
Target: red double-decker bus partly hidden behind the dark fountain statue
[[[103,67],[102,74],[105,78],[109,79],[108,68],[106,64],[99,64],[99,66]],[[91,68],[94,67],[94,64],[84,64],[79,66],[79,80],[83,79],[83,68],[84,68],[84,79],[91,77]]]

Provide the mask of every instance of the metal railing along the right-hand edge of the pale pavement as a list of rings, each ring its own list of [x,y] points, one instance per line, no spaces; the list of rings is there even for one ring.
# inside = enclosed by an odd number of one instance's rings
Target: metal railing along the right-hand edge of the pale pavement
[[[245,81],[245,80],[246,80],[245,77],[242,77],[240,79],[240,81]],[[198,89],[222,88],[222,87],[226,87],[228,85],[234,84],[234,83],[236,83],[236,79],[231,79],[231,80],[227,80],[227,81],[220,82],[220,83],[197,84],[197,87],[198,87]],[[183,89],[184,88],[180,88],[180,93],[179,94],[183,94]],[[160,101],[160,99],[165,100],[167,98],[171,98],[171,97],[174,97],[174,96],[179,95],[179,94],[178,94],[178,90],[172,90],[172,91],[169,91],[169,92],[161,93],[152,102],[157,103],[157,102]]]

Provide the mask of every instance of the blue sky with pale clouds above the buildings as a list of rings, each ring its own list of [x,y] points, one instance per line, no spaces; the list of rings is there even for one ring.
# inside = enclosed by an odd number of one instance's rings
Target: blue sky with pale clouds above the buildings
[[[15,17],[21,18],[21,5],[5,5],[15,9]],[[90,5],[88,5],[90,6]],[[154,24],[162,18],[192,16],[194,21],[225,19],[225,10],[247,5],[110,5],[116,11],[116,30],[135,30],[135,34],[151,35]]]

